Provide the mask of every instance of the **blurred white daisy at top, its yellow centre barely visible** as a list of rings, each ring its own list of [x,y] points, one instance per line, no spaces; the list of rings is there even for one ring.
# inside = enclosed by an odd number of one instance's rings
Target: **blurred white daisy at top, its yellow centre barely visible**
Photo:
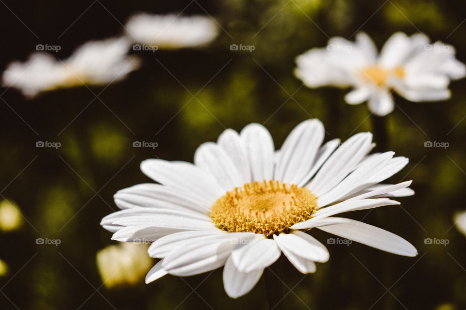
[[[216,22],[206,16],[142,13],[132,16],[125,28],[136,43],[159,48],[200,47],[218,35]]]

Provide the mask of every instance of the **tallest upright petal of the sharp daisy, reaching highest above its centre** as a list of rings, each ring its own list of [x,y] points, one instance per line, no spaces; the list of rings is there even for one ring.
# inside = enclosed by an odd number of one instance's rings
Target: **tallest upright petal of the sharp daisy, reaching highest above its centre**
[[[318,120],[307,120],[296,126],[283,142],[274,175],[275,180],[300,184],[311,171],[324,140],[324,126]]]

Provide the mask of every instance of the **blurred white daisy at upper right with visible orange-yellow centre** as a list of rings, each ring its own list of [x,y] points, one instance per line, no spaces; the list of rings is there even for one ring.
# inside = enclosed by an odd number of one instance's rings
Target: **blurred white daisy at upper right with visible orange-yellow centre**
[[[394,108],[392,91],[414,102],[450,97],[450,79],[464,78],[466,69],[455,59],[455,49],[441,42],[430,44],[422,33],[408,37],[393,34],[380,54],[370,37],[341,37],[324,48],[313,48],[296,59],[295,75],[308,87],[353,87],[345,96],[349,104],[368,101],[369,109],[384,116]]]

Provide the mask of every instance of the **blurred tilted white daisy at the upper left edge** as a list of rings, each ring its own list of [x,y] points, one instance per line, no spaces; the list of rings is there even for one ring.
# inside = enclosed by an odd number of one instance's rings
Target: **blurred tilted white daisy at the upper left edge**
[[[44,52],[33,53],[27,62],[12,62],[3,72],[2,84],[19,89],[25,96],[58,88],[102,85],[121,80],[139,66],[128,56],[125,38],[90,41],[60,61]]]

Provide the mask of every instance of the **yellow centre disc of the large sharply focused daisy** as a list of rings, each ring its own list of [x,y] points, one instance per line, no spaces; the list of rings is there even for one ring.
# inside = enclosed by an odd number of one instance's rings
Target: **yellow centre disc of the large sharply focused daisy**
[[[227,232],[271,237],[311,218],[316,208],[317,198],[309,189],[264,180],[227,192],[214,203],[210,217]]]

